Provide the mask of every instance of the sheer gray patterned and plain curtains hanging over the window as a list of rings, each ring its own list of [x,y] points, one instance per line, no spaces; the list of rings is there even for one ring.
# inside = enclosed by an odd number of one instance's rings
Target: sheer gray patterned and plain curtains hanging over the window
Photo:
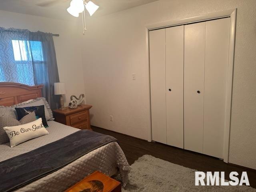
[[[54,82],[59,82],[53,34],[0,28],[0,82],[44,84],[42,96],[57,108]]]

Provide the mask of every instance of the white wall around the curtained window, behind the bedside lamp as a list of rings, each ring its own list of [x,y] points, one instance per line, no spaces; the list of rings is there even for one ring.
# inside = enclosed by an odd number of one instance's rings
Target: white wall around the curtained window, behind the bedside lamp
[[[78,23],[80,26],[80,22]],[[84,93],[84,76],[77,22],[54,20],[0,10],[0,26],[60,34],[54,38],[60,81],[66,82],[65,106],[70,96]]]

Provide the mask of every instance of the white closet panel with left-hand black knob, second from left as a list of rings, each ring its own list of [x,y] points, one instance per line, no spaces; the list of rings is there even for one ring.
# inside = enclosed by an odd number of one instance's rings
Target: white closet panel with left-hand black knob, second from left
[[[183,148],[184,26],[166,28],[167,144]],[[171,91],[170,91],[170,90]]]

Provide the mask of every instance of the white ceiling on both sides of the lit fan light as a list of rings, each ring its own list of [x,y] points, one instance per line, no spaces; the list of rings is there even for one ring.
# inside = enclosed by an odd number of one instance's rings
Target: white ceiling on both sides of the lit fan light
[[[71,0],[0,0],[0,10],[70,20],[73,16],[66,11],[70,1]],[[103,16],[154,1],[157,0],[92,0],[92,2],[100,6],[93,16]]]

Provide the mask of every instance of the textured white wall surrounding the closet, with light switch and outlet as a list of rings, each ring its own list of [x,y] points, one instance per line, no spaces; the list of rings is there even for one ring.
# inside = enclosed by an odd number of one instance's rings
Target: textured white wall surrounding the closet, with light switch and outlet
[[[238,15],[229,157],[231,163],[256,169],[255,0],[159,0],[90,18],[83,63],[92,124],[147,139],[150,89],[145,26],[234,8]],[[137,80],[132,80],[132,73]]]

